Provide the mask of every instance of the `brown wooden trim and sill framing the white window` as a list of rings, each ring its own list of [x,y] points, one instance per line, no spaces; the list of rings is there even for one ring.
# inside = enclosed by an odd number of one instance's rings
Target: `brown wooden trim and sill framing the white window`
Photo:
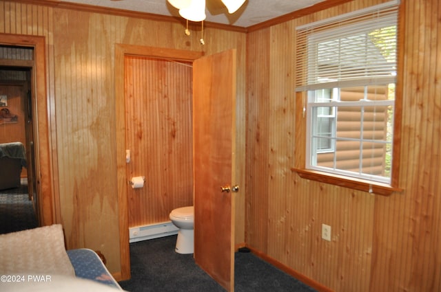
[[[380,194],[388,196],[393,192],[402,192],[399,187],[399,170],[400,170],[400,131],[401,131],[401,115],[402,115],[402,65],[403,58],[400,54],[402,47],[403,36],[400,34],[400,27],[403,25],[403,17],[400,13],[401,5],[398,5],[398,19],[397,19],[397,43],[396,43],[396,97],[394,100],[393,112],[393,163],[391,166],[390,183],[382,183],[379,181],[371,181],[368,179],[361,179],[356,177],[348,177],[330,172],[324,172],[316,169],[307,168],[306,158],[310,157],[309,148],[307,147],[307,123],[310,120],[307,117],[307,91],[296,92],[296,151],[294,153],[296,164],[291,168],[303,179],[320,181],[322,183],[329,183],[345,188],[352,188],[354,190],[361,190],[371,194]],[[308,155],[308,156],[307,156]]]

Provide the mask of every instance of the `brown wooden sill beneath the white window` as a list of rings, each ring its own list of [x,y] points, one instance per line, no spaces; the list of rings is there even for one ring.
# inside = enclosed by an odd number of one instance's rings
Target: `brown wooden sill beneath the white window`
[[[355,178],[351,179],[349,177],[343,177],[342,175],[331,175],[327,172],[320,172],[317,170],[291,168],[291,171],[297,172],[297,174],[302,179],[310,179],[311,181],[320,181],[321,183],[329,183],[332,185],[351,188],[354,190],[362,190],[363,192],[380,194],[382,196],[389,196],[393,192],[402,192],[402,188],[394,188],[384,183],[366,181],[363,179],[355,179]]]

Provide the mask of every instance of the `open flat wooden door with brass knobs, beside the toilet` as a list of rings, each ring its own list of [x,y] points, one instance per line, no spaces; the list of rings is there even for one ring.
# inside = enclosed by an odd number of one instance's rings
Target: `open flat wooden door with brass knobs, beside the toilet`
[[[194,260],[234,291],[236,50],[193,63]]]

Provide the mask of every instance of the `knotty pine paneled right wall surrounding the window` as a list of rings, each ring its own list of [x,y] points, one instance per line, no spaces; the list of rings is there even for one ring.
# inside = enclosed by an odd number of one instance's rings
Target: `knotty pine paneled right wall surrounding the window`
[[[292,103],[295,59],[284,50],[295,47],[295,27],[381,2],[351,1],[247,35],[247,244],[331,291],[441,291],[439,1],[402,1],[404,191],[378,196],[289,171],[301,157],[289,142],[301,137],[301,102]]]

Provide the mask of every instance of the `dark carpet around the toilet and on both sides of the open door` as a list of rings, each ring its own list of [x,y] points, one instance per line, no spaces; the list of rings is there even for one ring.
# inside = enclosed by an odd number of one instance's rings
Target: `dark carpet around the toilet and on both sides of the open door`
[[[127,291],[225,291],[199,268],[192,254],[176,254],[176,236],[130,244],[132,278],[120,282]],[[236,292],[312,292],[302,282],[252,253],[235,254]]]

